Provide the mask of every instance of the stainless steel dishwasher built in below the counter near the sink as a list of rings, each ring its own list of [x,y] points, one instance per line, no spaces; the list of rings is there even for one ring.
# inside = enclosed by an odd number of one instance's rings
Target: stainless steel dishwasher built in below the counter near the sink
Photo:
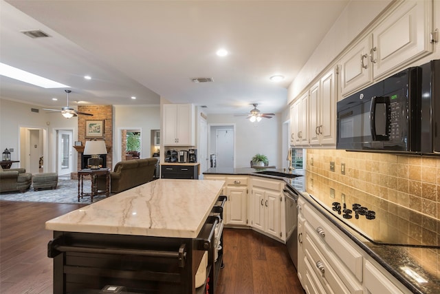
[[[286,246],[295,268],[298,269],[298,192],[285,185]]]

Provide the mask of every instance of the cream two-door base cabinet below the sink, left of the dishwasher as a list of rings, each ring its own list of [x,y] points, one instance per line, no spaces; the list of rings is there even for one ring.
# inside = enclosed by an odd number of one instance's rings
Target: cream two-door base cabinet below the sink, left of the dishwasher
[[[285,226],[282,226],[283,211],[283,182],[252,178],[250,202],[251,225],[267,235],[285,240]],[[285,221],[285,220],[284,220]]]

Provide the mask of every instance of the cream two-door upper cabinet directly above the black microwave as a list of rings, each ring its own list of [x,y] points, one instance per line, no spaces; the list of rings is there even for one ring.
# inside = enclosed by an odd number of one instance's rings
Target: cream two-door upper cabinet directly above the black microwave
[[[428,55],[432,1],[399,1],[342,56],[341,94],[347,96]]]

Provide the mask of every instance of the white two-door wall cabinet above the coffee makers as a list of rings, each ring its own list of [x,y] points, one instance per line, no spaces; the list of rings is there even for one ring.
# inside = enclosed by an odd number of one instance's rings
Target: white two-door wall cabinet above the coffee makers
[[[162,107],[164,146],[194,146],[194,105],[164,104]]]

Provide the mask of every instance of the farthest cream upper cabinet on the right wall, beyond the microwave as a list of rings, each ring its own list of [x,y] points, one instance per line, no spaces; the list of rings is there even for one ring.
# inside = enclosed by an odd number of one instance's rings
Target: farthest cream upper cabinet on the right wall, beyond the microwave
[[[300,96],[290,107],[290,144],[293,146],[309,145],[309,92]]]

